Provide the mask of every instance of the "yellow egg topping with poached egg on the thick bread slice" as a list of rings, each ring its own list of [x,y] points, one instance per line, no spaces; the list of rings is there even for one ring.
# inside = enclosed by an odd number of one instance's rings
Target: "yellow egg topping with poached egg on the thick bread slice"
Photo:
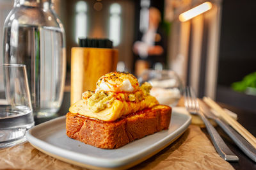
[[[100,86],[102,81],[108,84],[108,88]],[[131,86],[124,85],[124,82]],[[83,99],[73,104],[69,111],[103,121],[115,121],[124,115],[157,105],[156,98],[150,96],[151,88],[148,82],[139,87],[138,80],[131,73],[111,72],[99,79],[95,92],[84,92]]]

